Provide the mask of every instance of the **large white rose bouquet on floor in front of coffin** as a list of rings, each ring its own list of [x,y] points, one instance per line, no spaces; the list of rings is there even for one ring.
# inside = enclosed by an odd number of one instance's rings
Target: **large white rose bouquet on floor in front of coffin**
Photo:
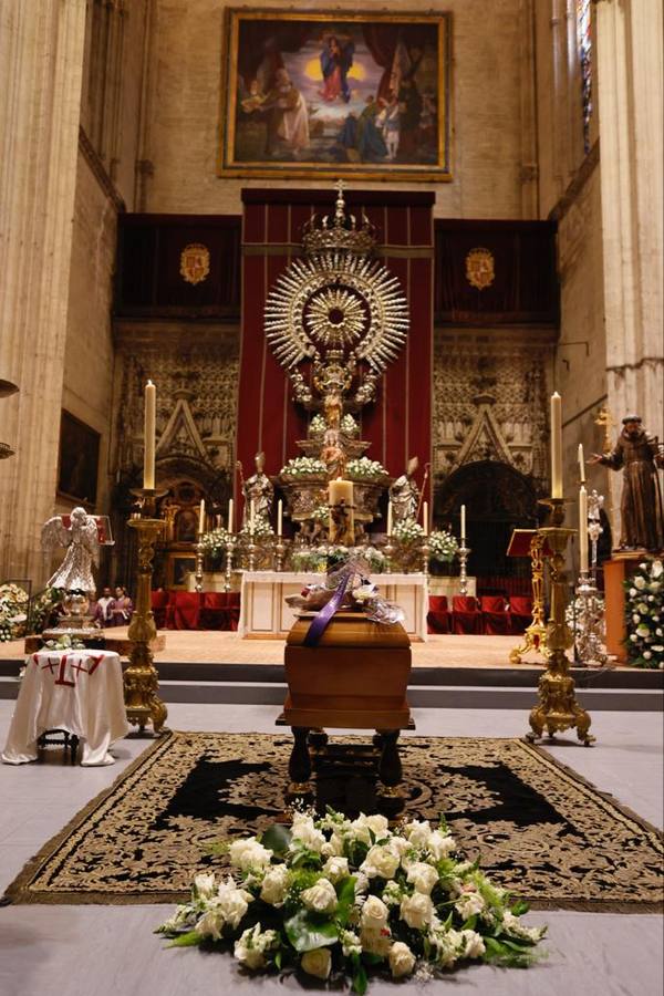
[[[456,855],[445,821],[388,829],[383,816],[349,820],[295,812],[224,845],[232,874],[196,875],[191,899],[158,927],[172,946],[229,951],[250,971],[320,979],[430,977],[469,962],[523,967],[546,927],[527,927],[525,903]]]

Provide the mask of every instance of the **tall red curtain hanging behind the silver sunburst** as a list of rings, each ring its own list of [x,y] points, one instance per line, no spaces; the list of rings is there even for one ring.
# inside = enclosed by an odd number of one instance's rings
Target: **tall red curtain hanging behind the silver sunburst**
[[[266,298],[278,276],[300,253],[302,225],[313,212],[330,210],[334,195],[247,189],[242,200],[237,458],[248,475],[255,455],[262,449],[266,471],[273,475],[300,454],[295,444],[305,438],[308,414],[291,401],[290,382],[266,340]],[[372,444],[367,456],[380,460],[393,476],[404,471],[409,457],[418,456],[421,483],[432,448],[434,195],[351,191],[346,200],[356,214],[364,208],[375,225],[380,257],[400,279],[411,312],[407,342],[382,377],[375,404],[362,412],[362,437]],[[425,497],[430,507],[430,477]]]

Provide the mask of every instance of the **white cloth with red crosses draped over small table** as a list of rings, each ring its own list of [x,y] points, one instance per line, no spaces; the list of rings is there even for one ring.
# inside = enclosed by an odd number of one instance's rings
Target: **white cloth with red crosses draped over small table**
[[[129,732],[117,654],[42,650],[27,658],[2,760],[37,760],[37,741],[48,729],[79,737],[85,767],[115,762],[110,747]]]

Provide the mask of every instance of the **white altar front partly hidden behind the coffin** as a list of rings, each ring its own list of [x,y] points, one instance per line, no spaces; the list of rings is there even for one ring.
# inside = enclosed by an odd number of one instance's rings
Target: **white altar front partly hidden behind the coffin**
[[[286,596],[299,594],[305,584],[321,582],[322,574],[287,571],[245,571],[238,633],[245,637],[283,637],[294,611]],[[404,610],[404,629],[411,640],[426,640],[428,590],[426,574],[372,574],[383,598]]]

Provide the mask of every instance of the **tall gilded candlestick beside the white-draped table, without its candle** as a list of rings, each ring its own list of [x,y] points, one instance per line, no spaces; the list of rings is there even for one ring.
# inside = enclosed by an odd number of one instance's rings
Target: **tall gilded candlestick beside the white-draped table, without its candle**
[[[139,511],[132,515],[127,525],[136,530],[138,539],[138,571],[136,609],[128,630],[132,643],[129,666],[124,674],[125,706],[128,722],[138,726],[141,733],[152,723],[155,734],[158,734],[168,710],[157,694],[159,682],[151,647],[157,627],[151,608],[151,592],[155,542],[164,528],[164,521],[156,518],[156,502],[166,492],[141,488],[132,494],[138,499]]]

